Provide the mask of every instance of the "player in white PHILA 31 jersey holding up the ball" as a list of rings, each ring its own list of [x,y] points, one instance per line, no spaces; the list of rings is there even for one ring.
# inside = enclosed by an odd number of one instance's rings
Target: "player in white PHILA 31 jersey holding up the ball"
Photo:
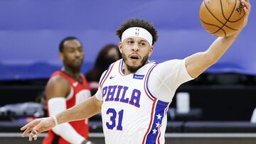
[[[250,13],[249,0],[243,3],[246,16],[242,28]],[[166,111],[178,86],[215,64],[240,31],[217,38],[205,52],[156,64],[148,61],[157,39],[154,26],[131,19],[117,30],[122,59],[102,74],[95,96],[63,113],[28,123],[21,128],[25,130],[23,136],[31,132],[29,140],[36,140],[38,133],[60,123],[90,118],[101,112],[106,144],[162,144]]]

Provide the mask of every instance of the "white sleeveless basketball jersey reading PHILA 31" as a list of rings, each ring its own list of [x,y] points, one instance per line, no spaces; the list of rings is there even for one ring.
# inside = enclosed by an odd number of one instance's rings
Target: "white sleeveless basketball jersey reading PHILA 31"
[[[123,60],[114,62],[100,81],[105,143],[164,143],[169,103],[152,96],[147,86],[156,64],[149,62],[127,75],[122,65]]]

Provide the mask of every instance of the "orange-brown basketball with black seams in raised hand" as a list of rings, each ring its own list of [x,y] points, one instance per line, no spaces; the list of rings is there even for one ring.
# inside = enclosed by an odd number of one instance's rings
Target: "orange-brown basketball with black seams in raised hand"
[[[203,0],[200,20],[203,28],[215,36],[229,36],[242,26],[245,11],[240,0]]]

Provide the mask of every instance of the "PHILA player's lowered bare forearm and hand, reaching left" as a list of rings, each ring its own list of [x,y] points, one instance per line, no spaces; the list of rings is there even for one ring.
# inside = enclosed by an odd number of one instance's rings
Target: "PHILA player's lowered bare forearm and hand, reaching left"
[[[58,113],[55,118],[58,124],[67,123],[69,121],[77,121],[85,118],[90,118],[96,113],[100,113],[102,106],[102,101],[99,101],[95,96],[82,101],[80,104],[73,106],[62,113]],[[53,117],[38,118],[30,123],[26,124],[21,128],[24,131],[22,137],[27,133],[31,132],[28,140],[36,140],[38,138],[38,133],[48,131],[55,126],[55,120]]]

